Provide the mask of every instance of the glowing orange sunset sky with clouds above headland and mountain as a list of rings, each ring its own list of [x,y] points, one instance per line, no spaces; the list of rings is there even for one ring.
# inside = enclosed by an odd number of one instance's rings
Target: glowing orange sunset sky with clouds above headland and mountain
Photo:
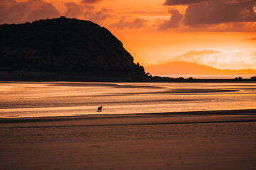
[[[255,0],[0,0],[0,23],[58,16],[104,26],[144,66],[256,69]]]

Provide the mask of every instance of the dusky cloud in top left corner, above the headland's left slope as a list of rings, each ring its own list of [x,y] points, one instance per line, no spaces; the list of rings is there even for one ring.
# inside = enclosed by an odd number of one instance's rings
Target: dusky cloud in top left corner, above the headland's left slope
[[[60,13],[43,0],[0,0],[0,23],[24,23],[44,18],[56,18]]]

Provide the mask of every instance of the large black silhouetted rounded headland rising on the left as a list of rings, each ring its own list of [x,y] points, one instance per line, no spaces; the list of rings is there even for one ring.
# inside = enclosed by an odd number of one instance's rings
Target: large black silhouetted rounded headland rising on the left
[[[0,37],[0,80],[49,80],[51,76],[53,81],[63,79],[58,74],[68,75],[68,79],[78,77],[78,81],[87,80],[79,77],[146,77],[144,68],[134,64],[122,42],[90,21],[62,16],[4,24],[0,26]]]

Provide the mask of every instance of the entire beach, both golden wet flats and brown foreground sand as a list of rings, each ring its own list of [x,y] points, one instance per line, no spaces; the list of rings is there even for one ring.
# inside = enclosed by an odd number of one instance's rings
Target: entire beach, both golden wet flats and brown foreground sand
[[[1,83],[0,166],[255,169],[255,86]]]

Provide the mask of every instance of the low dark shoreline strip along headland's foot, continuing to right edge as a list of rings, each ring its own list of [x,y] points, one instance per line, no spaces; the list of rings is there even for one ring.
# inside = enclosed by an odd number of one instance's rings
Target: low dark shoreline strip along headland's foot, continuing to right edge
[[[184,74],[187,75],[187,74]],[[194,74],[201,75],[201,74]],[[220,74],[222,75],[222,74]],[[229,74],[227,74],[229,75]],[[236,75],[236,74],[235,74]],[[247,75],[247,74],[246,74]],[[251,75],[251,74],[250,74]],[[160,76],[148,76],[144,75],[142,77],[93,77],[93,76],[74,76],[70,74],[57,74],[53,72],[29,72],[29,71],[13,71],[13,72],[0,72],[0,82],[6,81],[26,81],[26,82],[50,82],[50,81],[72,81],[72,82],[256,82],[256,77],[252,75],[250,78],[243,79],[242,74],[238,74],[238,77],[233,79],[223,78],[223,79],[198,79],[191,77],[183,78],[181,77],[161,77]]]

